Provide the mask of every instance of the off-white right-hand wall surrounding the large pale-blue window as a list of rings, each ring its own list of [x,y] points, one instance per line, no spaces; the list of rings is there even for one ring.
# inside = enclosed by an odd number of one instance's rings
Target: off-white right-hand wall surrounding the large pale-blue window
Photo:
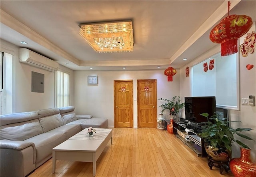
[[[255,22],[252,28],[249,30],[251,33],[255,31]],[[246,36],[246,35],[245,35]],[[244,41],[244,37],[242,36],[239,40],[240,43]],[[213,56],[214,54],[220,52],[220,44],[217,44],[216,47],[212,48],[208,52],[202,54],[198,58],[194,59],[188,65],[183,66],[180,68],[180,95],[182,97],[191,96],[191,75],[190,77],[186,77],[185,69],[187,66],[191,67],[202,62],[206,58]],[[249,97],[249,95],[256,95],[256,52],[254,54],[249,54],[247,57],[240,57],[240,98],[242,97]],[[253,64],[254,68],[251,70],[246,69],[247,64]],[[215,66],[214,66],[215,67]],[[242,123],[232,123],[232,128],[238,127],[246,127],[252,128],[252,131],[244,132],[245,135],[252,137],[256,141],[256,106],[249,106],[249,105],[241,105],[240,103],[240,110],[230,111],[230,118],[231,121],[241,121]],[[184,111],[183,111],[184,115]],[[248,145],[251,149],[251,159],[252,161],[256,161],[256,143],[255,141],[249,141],[244,138],[237,137],[240,141]],[[238,144],[233,143],[232,147],[232,157],[240,157],[240,147]]]

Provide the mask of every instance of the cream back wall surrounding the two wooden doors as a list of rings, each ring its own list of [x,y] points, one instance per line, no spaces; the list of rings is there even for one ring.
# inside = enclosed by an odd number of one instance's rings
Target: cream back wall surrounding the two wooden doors
[[[166,69],[166,68],[164,68]],[[179,70],[177,70],[179,72]],[[88,85],[87,76],[98,76],[98,85]],[[179,74],[173,76],[173,82],[167,82],[164,70],[142,71],[75,71],[74,72],[74,106],[77,114],[91,114],[94,117],[105,117],[108,125],[114,126],[114,80],[133,80],[134,127],[137,127],[137,80],[156,79],[157,98],[171,99],[179,95]],[[158,101],[158,113],[161,111]],[[164,115],[166,119],[168,115]]]

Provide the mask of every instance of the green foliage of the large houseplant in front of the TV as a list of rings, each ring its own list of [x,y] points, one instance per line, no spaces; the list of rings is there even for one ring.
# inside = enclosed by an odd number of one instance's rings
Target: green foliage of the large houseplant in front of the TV
[[[245,139],[253,140],[252,138],[240,133],[242,131],[250,131],[251,128],[237,128],[233,129],[228,127],[229,122],[240,122],[240,121],[225,121],[226,118],[221,118],[218,115],[213,115],[208,118],[208,113],[200,114],[204,117],[207,117],[208,122],[202,127],[202,133],[199,133],[199,136],[204,139],[205,142],[208,142],[212,147],[221,147],[226,148],[231,151],[232,143],[236,142],[242,147],[250,149],[247,145],[242,143],[239,140],[236,140],[234,134],[243,137]],[[212,123],[212,121],[214,123]]]

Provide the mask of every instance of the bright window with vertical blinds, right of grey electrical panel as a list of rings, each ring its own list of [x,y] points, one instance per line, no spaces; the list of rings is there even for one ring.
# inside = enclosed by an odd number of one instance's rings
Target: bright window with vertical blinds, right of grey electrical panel
[[[56,72],[56,107],[69,106],[69,74]]]

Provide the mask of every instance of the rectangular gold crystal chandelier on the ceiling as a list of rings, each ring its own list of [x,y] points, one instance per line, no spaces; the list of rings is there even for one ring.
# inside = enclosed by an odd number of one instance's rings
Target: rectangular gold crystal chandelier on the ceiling
[[[96,52],[133,52],[132,21],[80,24],[79,34]]]

